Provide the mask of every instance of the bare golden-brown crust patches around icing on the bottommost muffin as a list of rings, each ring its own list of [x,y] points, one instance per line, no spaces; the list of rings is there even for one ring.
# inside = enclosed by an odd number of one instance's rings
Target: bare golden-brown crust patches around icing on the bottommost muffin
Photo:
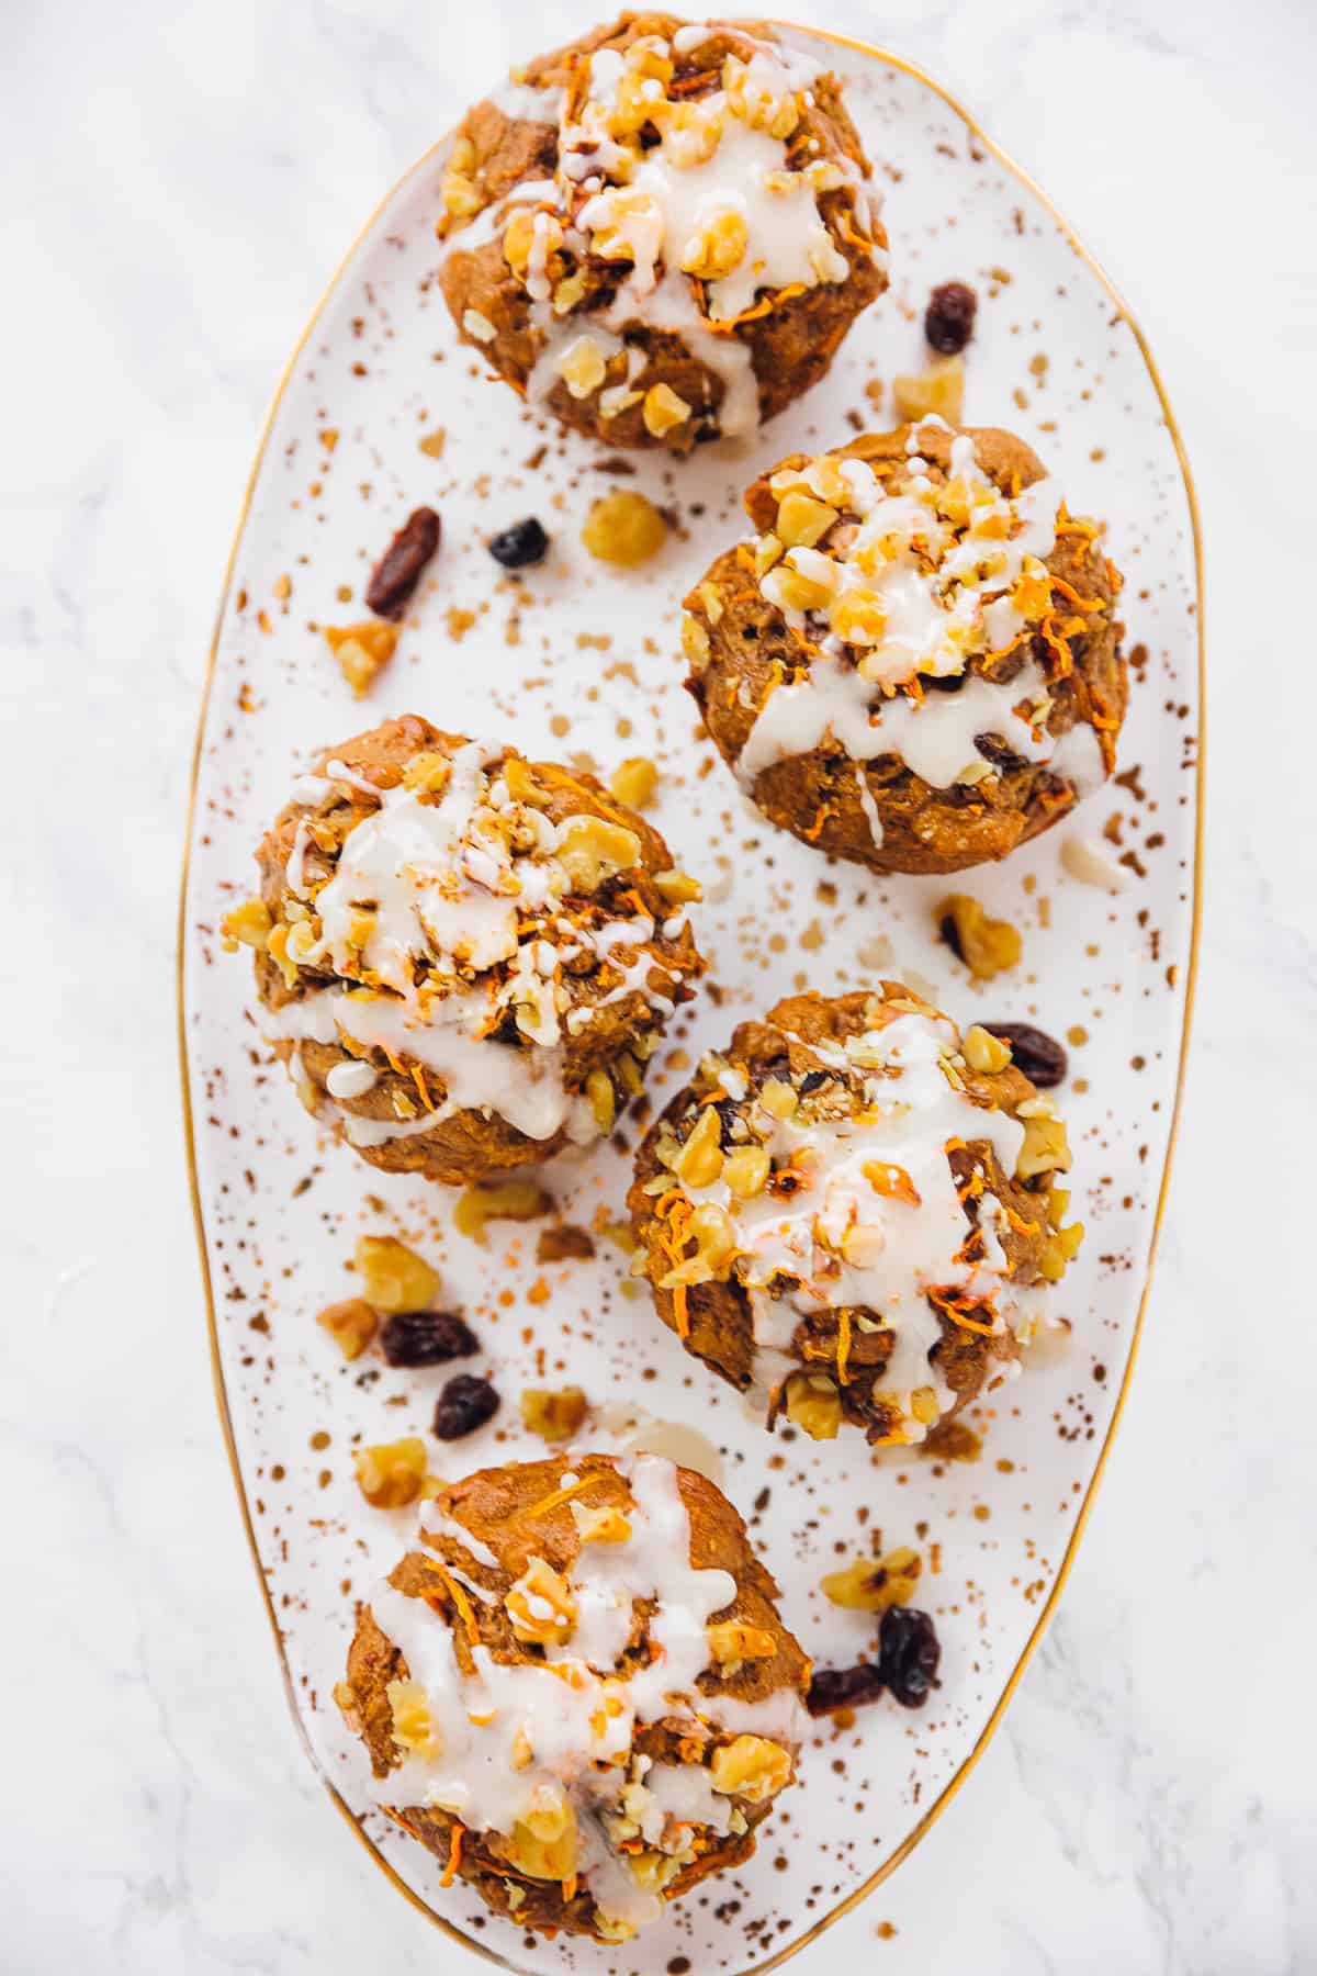
[[[703,1476],[687,1468],[669,1470],[689,1522],[689,1563],[695,1569],[725,1571],[735,1581],[735,1599],[713,1614],[715,1624],[735,1622],[760,1636],[760,1652],[735,1672],[709,1668],[699,1676],[699,1695],[711,1705],[719,1697],[733,1705],[766,1703],[772,1697],[804,1697],[810,1662],[782,1626],[776,1585],[754,1557],[744,1523],[727,1498]],[[575,1478],[563,1488],[563,1478]],[[608,1456],[557,1456],[543,1462],[486,1468],[446,1488],[434,1504],[436,1529],[421,1531],[425,1549],[409,1551],[389,1585],[407,1599],[425,1601],[434,1624],[452,1634],[452,1648],[464,1674],[474,1668],[472,1650],[484,1648],[500,1666],[543,1668],[543,1650],[527,1644],[511,1626],[505,1599],[521,1575],[543,1561],[565,1583],[581,1567],[584,1543],[573,1504],[590,1512],[636,1514],[628,1484],[628,1464]],[[470,1535],[470,1547],[464,1541]],[[490,1563],[490,1557],[496,1563]],[[466,1587],[466,1591],[464,1591]],[[650,1666],[650,1626],[656,1603],[638,1599],[632,1630],[618,1660],[616,1676],[626,1682]],[[571,1642],[569,1642],[571,1644]],[[349,1725],[361,1735],[377,1778],[399,1765],[395,1709],[389,1684],[409,1680],[409,1666],[387,1638],[369,1605],[357,1610],[357,1630],[348,1656],[348,1680],[336,1691]],[[549,1680],[549,1672],[545,1670]],[[397,1689],[395,1689],[397,1693]],[[699,1699],[699,1697],[695,1697]],[[709,1767],[717,1749],[731,1741],[725,1727],[701,1723],[681,1707],[659,1721],[636,1725],[632,1757],[654,1765]],[[632,1765],[644,1774],[646,1763]],[[385,1794],[387,1796],[387,1794]],[[742,1832],[705,1832],[695,1855],[661,1887],[673,1899],[754,1850],[754,1828],[770,1810],[762,1802],[736,1800],[744,1814]],[[565,1879],[531,1875],[517,1861],[517,1846],[505,1832],[478,1828],[446,1810],[389,1804],[389,1812],[438,1859],[470,1881],[496,1911],[513,1915],[523,1927],[618,1938],[600,1917],[588,1871]],[[626,1857],[626,1852],[622,1852]]]

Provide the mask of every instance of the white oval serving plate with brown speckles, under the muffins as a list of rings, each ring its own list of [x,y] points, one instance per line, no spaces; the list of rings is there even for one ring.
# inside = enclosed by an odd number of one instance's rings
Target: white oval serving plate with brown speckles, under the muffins
[[[442,146],[389,196],[340,269],[271,413],[221,605],[197,737],[182,907],[182,1028],[194,1199],[211,1344],[235,1480],[288,1693],[312,1761],[375,1859],[440,1927],[517,1970],[764,1970],[853,1905],[932,1824],[991,1733],[1058,1595],[1129,1375],[1177,1111],[1193,976],[1201,615],[1193,492],[1151,360],[1118,296],[1043,196],[922,73],[827,36],[784,30],[843,71],[885,190],[892,290],[831,375],[742,447],[618,468],[486,383],[434,285]],[[891,377],[924,362],[928,288],[971,281],[966,421],[1037,447],[1070,506],[1110,520],[1135,654],[1120,779],[1005,865],[964,873],[1025,935],[1021,966],[971,982],[938,945],[942,879],[875,879],[772,832],[695,731],[681,692],[677,601],[740,534],[740,488],[762,466],[891,419]],[[879,381],[887,387],[879,393]],[[877,397],[877,409],[875,409]],[[436,435],[444,433],[440,441]],[[624,478],[620,478],[624,474]],[[592,498],[620,480],[675,520],[663,553],[610,573],[579,543]],[[444,545],[397,658],[353,701],[316,626],[351,622],[371,559],[421,502]],[[525,583],[484,541],[523,514],[555,537]],[[535,1225],[456,1233],[454,1199],[377,1174],[304,1116],[251,1014],[249,960],[217,925],[253,883],[253,850],[318,743],[419,711],[529,755],[659,763],[652,812],[705,881],[695,909],[711,990],[656,1057],[663,1103],[707,1045],[776,996],[910,974],[962,1022],[1017,1018],[1070,1037],[1058,1093],[1088,1241],[1054,1298],[1070,1322],[1021,1379],[975,1407],[977,1460],[869,1454],[770,1439],[687,1359],[598,1235],[592,1263],[535,1261]],[[1088,879],[1076,873],[1088,871]],[[1092,883],[1108,871],[1120,889]],[[634,1142],[634,1126],[626,1138]],[[622,1146],[555,1166],[561,1217],[606,1229],[622,1211]],[[891,1703],[817,1723],[802,1782],[740,1871],[705,1881],[622,1950],[531,1940],[369,1810],[363,1757],[332,1701],[353,1601],[401,1555],[411,1512],[369,1510],[351,1446],[426,1433],[442,1369],[344,1363],[314,1314],[351,1292],[361,1231],[399,1233],[434,1261],[444,1304],[480,1332],[504,1395],[468,1441],[432,1442],[456,1478],[543,1454],[517,1393],[571,1379],[594,1425],[579,1446],[661,1446],[671,1423],[717,1448],[721,1480],[776,1573],[784,1614],[823,1666],[871,1648],[863,1614],[817,1581],[845,1555],[912,1543],[918,1603],[942,1636],[922,1713]],[[675,1452],[675,1448],[671,1448]],[[802,1844],[808,1834],[808,1844]]]

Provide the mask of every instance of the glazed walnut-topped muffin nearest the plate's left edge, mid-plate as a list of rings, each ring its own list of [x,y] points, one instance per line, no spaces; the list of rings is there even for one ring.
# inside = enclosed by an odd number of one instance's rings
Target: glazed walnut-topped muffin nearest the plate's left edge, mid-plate
[[[703,962],[661,836],[417,715],[324,749],[229,915],[261,1028],[371,1166],[464,1184],[608,1132]]]

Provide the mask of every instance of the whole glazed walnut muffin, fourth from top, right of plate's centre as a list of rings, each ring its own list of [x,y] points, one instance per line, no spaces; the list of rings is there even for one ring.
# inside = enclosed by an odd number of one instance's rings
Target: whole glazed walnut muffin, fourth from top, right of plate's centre
[[[628,1205],[663,1322],[813,1439],[924,1441],[1019,1369],[1082,1239],[1050,1097],[898,982],[790,996],[671,1101]]]

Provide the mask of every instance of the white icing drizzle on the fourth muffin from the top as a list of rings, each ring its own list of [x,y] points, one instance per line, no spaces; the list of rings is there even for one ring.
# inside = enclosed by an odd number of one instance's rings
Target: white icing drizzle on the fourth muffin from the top
[[[910,1395],[932,1389],[938,1413],[956,1401],[928,1358],[942,1340],[928,1290],[991,1300],[997,1334],[1009,1328],[1027,1340],[1037,1326],[1041,1296],[1009,1280],[999,1239],[1003,1209],[993,1195],[983,1195],[979,1215],[985,1253],[958,1259],[969,1223],[946,1152],[950,1140],[985,1140],[1001,1170],[1013,1174],[1025,1128],[950,1083],[942,1057],[956,1051],[958,1035],[946,1016],[896,1016],[845,1045],[808,1047],[839,1071],[859,1071],[865,1105],[833,1120],[762,1114],[762,1142],[774,1164],[796,1154],[806,1186],[786,1199],[760,1192],[748,1201],[733,1197],[723,1180],[681,1186],[691,1201],[713,1201],[731,1217],[735,1275],[750,1292],[754,1322],[754,1403],[766,1407],[774,1387],[802,1367],[792,1344],[802,1316],[873,1310],[894,1334],[881,1395],[900,1413],[904,1439],[922,1441],[928,1429],[914,1417]],[[723,1077],[723,1059],[715,1061]],[[869,1162],[900,1168],[916,1199],[879,1194],[865,1176]]]

